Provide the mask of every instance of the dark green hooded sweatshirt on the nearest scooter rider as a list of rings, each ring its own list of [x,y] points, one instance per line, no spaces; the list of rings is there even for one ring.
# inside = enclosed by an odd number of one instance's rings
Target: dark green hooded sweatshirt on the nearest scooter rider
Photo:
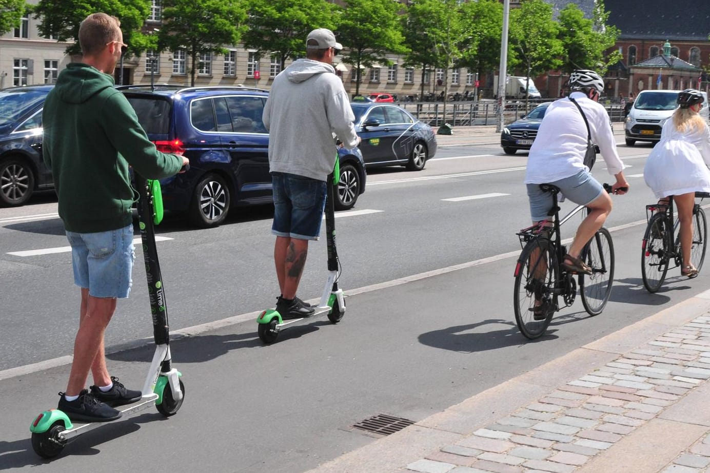
[[[42,114],[45,164],[52,169],[66,230],[94,233],[133,222],[129,165],[147,179],[177,174],[182,157],[155,149],[114,78],[72,63],[59,74]]]

